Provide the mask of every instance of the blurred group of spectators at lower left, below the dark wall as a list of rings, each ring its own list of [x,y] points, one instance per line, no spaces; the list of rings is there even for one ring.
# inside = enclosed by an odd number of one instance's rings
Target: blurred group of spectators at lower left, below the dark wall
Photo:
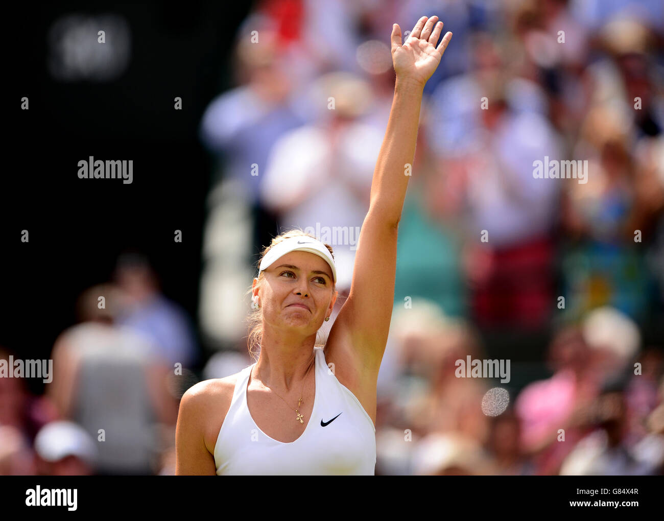
[[[54,342],[43,396],[0,378],[0,475],[175,473],[175,423],[200,348],[187,313],[142,254],[76,302]],[[0,362],[18,352],[0,347]]]

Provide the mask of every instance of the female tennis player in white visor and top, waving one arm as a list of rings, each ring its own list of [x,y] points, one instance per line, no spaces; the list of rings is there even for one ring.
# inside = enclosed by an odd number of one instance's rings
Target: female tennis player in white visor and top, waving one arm
[[[376,384],[392,317],[406,165],[415,155],[424,84],[452,38],[448,32],[436,46],[437,20],[420,18],[404,44],[400,27],[392,27],[394,100],[351,290],[325,346],[315,342],[337,300],[332,248],[291,230],[262,252],[253,281],[257,362],[182,397],[177,475],[374,474]]]

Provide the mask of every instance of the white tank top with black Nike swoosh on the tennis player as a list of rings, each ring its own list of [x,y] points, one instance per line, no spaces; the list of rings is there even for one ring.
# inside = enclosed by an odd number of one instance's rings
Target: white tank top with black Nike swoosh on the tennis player
[[[291,443],[266,435],[247,407],[249,374],[240,371],[214,445],[217,475],[374,475],[376,429],[355,395],[315,347],[315,399],[304,432]],[[293,412],[294,414],[294,412]]]

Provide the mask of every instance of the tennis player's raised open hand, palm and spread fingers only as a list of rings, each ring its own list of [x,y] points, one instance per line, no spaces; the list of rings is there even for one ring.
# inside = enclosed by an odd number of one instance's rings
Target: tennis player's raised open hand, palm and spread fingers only
[[[448,31],[436,47],[443,29],[443,23],[436,23],[437,20],[437,16],[420,18],[403,45],[401,28],[396,23],[392,26],[392,62],[398,78],[414,80],[424,87],[434,74],[452,40],[452,33]]]

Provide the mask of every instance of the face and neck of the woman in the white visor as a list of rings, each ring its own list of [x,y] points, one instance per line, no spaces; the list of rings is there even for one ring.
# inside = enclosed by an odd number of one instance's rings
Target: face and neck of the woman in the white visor
[[[293,365],[298,367],[298,364],[287,360],[302,358],[299,366],[307,364],[316,332],[325,317],[331,315],[339,291],[333,290],[329,264],[309,252],[290,252],[282,256],[263,272],[263,276],[260,287],[258,278],[254,278],[253,295],[262,309],[262,344],[270,346],[270,350],[262,352],[258,368],[268,382],[288,389]],[[309,309],[292,306],[293,303],[303,303]],[[265,360],[268,356],[269,364]],[[276,367],[280,369],[272,371],[273,374],[284,378],[274,382],[270,380],[270,372]]]

